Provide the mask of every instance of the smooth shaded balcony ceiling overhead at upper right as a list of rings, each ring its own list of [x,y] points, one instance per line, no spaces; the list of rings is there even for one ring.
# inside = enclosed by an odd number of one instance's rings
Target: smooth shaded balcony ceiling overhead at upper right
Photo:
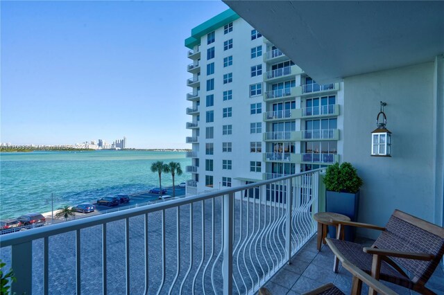
[[[224,2],[320,83],[444,53],[444,1]]]

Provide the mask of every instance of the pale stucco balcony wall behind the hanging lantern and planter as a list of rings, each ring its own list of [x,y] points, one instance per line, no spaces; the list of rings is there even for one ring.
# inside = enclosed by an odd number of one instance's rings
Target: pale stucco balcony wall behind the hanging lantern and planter
[[[344,84],[343,160],[364,181],[359,222],[384,225],[395,208],[434,222],[434,63],[357,75]],[[370,157],[381,100],[392,157]]]

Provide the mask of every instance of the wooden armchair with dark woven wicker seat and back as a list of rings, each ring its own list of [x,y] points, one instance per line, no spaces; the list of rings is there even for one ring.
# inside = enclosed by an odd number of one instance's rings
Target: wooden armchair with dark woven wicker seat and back
[[[443,258],[443,227],[398,210],[391,215],[385,228],[358,222],[338,224],[338,236],[344,226],[376,229],[382,233],[372,247],[365,248],[352,242],[326,239],[336,255],[335,272],[338,271],[339,260],[345,258],[373,278],[386,280],[421,294],[434,294],[425,284]]]

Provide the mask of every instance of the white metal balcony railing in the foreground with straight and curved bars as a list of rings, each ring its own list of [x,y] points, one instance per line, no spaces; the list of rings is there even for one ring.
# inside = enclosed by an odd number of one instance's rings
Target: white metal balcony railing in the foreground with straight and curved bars
[[[320,170],[2,237],[17,294],[253,294],[316,233]]]

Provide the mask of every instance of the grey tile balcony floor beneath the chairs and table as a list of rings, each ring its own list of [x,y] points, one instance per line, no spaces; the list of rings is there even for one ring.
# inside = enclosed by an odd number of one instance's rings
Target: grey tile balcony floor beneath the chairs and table
[[[371,240],[359,240],[366,246],[372,244]],[[352,287],[351,274],[339,268],[339,273],[333,271],[334,255],[327,245],[323,245],[321,251],[316,249],[316,236],[291,258],[291,264],[285,265],[278,271],[264,287],[272,294],[303,294],[326,283],[334,283],[345,294],[350,294]],[[386,283],[398,294],[416,294],[409,289]],[[438,266],[427,287],[436,294],[444,294],[444,271]],[[363,284],[362,294],[368,294],[368,287]]]

